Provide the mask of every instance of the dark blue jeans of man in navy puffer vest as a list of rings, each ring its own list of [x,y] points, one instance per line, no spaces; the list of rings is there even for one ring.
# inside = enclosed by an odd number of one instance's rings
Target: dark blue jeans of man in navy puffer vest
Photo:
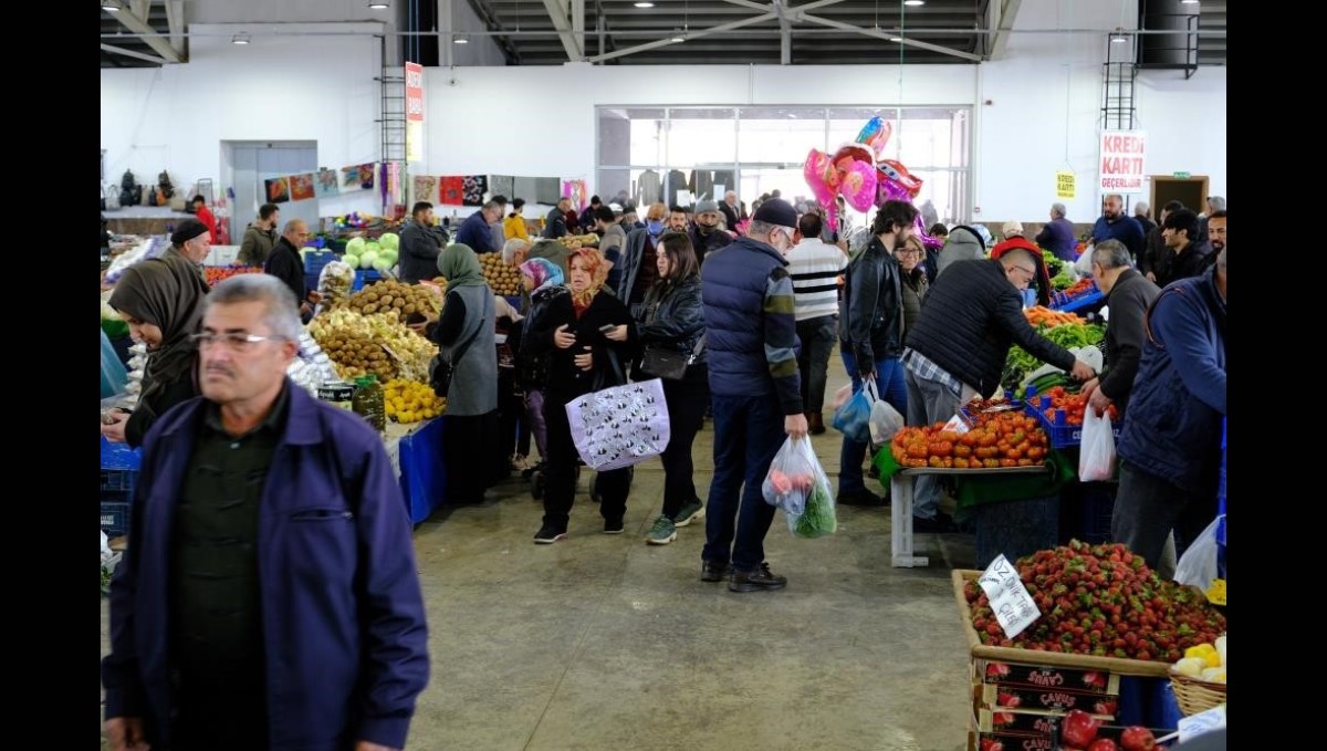
[[[764,535],[774,521],[775,510],[764,502],[760,483],[787,438],[783,409],[775,394],[714,395],[711,403],[714,479],[710,480],[701,557],[715,565],[731,561],[734,569],[750,572],[764,563]],[[736,545],[733,544],[734,527]]]

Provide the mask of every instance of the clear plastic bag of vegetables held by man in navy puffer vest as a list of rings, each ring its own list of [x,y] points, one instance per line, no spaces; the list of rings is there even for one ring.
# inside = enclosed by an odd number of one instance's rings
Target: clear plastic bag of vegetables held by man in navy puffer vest
[[[783,510],[788,531],[798,537],[819,537],[837,528],[833,488],[809,437],[783,442],[760,491],[766,503]]]

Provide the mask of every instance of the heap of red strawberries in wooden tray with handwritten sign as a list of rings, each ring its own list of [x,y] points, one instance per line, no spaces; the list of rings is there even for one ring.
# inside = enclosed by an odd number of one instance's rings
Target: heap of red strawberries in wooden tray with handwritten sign
[[[1226,632],[1226,618],[1201,592],[1162,581],[1123,544],[1078,540],[1018,560],[1018,573],[1042,617],[1005,637],[986,593],[963,584],[982,644],[1096,657],[1176,662],[1190,646]]]

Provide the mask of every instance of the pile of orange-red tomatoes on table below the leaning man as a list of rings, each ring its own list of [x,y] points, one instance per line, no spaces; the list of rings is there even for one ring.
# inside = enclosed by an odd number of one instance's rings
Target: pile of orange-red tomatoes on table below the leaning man
[[[1048,439],[1035,418],[1019,411],[974,415],[967,433],[945,430],[943,423],[904,427],[889,442],[900,467],[995,470],[1032,467],[1046,460]]]

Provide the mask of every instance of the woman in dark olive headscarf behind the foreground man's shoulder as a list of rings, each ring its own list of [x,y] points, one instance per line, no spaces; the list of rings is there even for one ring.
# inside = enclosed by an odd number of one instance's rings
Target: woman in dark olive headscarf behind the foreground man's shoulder
[[[139,261],[121,275],[107,304],[129,324],[134,340],[147,345],[147,366],[133,413],[113,410],[107,419],[114,422],[102,422],[107,441],[138,448],[157,418],[199,394],[198,345],[191,337],[202,325],[204,300],[200,287],[163,260]]]

